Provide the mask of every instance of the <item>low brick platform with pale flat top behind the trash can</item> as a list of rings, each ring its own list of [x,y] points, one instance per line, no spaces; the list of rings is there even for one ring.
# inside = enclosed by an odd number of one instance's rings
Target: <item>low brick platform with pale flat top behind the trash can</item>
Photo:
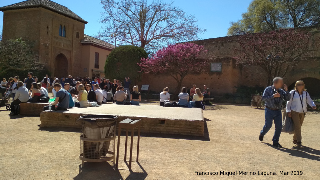
[[[117,122],[126,118],[141,119],[141,132],[204,135],[202,109],[162,107],[156,105],[104,104],[100,107],[72,108],[67,111],[43,111],[40,114],[41,127],[77,127],[76,120],[82,115],[105,114],[118,117]]]

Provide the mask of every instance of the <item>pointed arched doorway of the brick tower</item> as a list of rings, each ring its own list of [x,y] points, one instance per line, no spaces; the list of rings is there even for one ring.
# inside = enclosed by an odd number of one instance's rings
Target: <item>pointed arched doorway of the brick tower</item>
[[[54,76],[57,78],[68,76],[68,59],[64,54],[58,54],[54,62]]]

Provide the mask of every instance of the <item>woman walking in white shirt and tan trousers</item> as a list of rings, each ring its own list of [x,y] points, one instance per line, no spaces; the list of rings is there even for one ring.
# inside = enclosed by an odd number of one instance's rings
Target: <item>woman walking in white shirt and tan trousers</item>
[[[287,115],[292,118],[294,124],[293,143],[298,147],[302,146],[301,143],[301,126],[307,112],[307,103],[313,109],[316,109],[315,103],[310,98],[305,89],[305,84],[302,80],[296,82],[294,90],[290,91],[291,98],[287,102]]]

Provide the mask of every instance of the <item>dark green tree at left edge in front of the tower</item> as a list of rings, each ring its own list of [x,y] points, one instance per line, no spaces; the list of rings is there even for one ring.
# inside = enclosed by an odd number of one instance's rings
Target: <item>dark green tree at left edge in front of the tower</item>
[[[44,66],[45,63],[39,60],[22,38],[0,41],[0,73],[9,70],[42,70]]]

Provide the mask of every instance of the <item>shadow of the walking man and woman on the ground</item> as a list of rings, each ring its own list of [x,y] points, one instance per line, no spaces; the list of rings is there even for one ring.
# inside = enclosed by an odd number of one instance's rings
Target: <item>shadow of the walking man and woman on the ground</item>
[[[277,147],[271,145],[270,143],[264,143],[264,144],[267,144],[268,146],[275,148],[277,150],[287,152],[291,156],[320,161],[320,151],[316,150],[316,149],[312,149],[307,146],[302,146],[302,147],[294,146],[294,147],[292,147],[292,149],[288,149],[288,148],[284,148],[284,147],[277,148]]]

